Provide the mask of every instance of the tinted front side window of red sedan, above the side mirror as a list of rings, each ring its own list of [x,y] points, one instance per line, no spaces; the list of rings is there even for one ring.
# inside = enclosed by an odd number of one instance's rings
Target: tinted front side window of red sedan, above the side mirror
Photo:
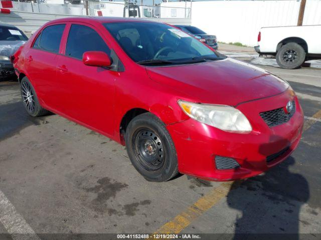
[[[72,24],[67,39],[66,55],[82,59],[85,51],[104,51],[110,56],[109,47],[94,29]]]

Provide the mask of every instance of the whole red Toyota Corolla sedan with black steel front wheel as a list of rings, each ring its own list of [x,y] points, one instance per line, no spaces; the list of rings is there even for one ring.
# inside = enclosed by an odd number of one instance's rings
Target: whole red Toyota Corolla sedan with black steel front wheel
[[[286,81],[168,24],[53,20],[12,61],[30,115],[55,112],[126,145],[150,181],[250,177],[286,159],[302,133]]]

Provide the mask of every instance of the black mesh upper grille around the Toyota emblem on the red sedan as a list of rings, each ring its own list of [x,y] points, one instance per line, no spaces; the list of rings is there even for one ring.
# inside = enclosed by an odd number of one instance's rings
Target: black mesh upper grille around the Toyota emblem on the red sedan
[[[288,122],[295,112],[295,101],[292,101],[293,108],[289,113],[286,113],[283,109],[277,108],[270,111],[260,112],[260,116],[270,127],[280,125],[282,123]]]

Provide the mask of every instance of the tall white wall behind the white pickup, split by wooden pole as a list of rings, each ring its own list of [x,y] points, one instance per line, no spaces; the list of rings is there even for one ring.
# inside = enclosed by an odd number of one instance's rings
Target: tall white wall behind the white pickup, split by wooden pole
[[[184,7],[185,2],[175,6]],[[261,27],[296,25],[299,6],[296,0],[193,1],[192,25],[215,34],[219,41],[254,46]],[[307,24],[321,24],[321,0],[306,1],[303,25]]]

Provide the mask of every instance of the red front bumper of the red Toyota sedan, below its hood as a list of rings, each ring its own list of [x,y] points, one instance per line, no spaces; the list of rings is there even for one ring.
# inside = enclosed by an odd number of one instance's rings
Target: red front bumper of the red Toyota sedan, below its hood
[[[194,119],[168,125],[177,150],[179,171],[208,180],[226,181],[260,174],[286,159],[296,148],[303,127],[302,109],[296,96],[290,94],[288,90],[237,106],[251,122],[253,130],[249,134],[222,131]],[[290,120],[268,127],[259,112],[285,106],[290,98],[296,102],[296,111]],[[281,154],[267,162],[267,156],[279,152]],[[234,158],[240,167],[217,169],[215,156]]]

